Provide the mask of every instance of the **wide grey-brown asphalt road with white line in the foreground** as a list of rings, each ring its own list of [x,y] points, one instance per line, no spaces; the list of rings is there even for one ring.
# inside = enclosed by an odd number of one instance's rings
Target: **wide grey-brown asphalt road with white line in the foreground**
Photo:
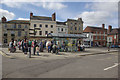
[[[2,58],[3,78],[117,78],[118,54],[56,60]]]

